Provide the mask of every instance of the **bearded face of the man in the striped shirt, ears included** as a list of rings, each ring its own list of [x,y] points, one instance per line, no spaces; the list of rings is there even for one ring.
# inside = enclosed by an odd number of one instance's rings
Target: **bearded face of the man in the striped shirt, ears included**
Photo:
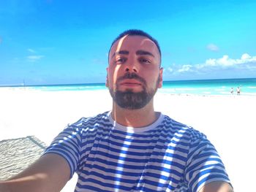
[[[118,106],[140,109],[162,87],[157,46],[147,37],[125,36],[113,44],[106,85]]]

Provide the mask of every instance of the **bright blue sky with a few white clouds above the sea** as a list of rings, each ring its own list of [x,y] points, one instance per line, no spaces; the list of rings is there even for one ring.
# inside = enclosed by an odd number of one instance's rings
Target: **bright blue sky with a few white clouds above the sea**
[[[256,1],[0,0],[0,85],[105,82],[129,28],[162,49],[164,80],[256,77]]]

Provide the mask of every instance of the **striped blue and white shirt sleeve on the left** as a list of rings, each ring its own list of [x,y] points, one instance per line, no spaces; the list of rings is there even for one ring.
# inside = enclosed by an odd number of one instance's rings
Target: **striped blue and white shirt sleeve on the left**
[[[56,153],[66,159],[70,168],[70,177],[78,169],[80,161],[80,131],[77,126],[67,126],[64,131],[53,139],[53,142],[46,148],[45,154]]]

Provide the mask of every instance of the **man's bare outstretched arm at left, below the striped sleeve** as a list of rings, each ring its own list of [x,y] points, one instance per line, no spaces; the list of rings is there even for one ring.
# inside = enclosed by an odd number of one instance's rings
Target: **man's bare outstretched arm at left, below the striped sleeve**
[[[0,182],[1,192],[55,192],[69,180],[67,161],[54,153],[42,155],[39,160],[20,174]]]

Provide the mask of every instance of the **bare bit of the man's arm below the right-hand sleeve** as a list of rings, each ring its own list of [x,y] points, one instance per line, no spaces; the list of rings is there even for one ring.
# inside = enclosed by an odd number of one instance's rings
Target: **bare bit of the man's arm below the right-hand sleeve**
[[[204,185],[199,192],[233,192],[233,188],[229,183],[215,181]]]

